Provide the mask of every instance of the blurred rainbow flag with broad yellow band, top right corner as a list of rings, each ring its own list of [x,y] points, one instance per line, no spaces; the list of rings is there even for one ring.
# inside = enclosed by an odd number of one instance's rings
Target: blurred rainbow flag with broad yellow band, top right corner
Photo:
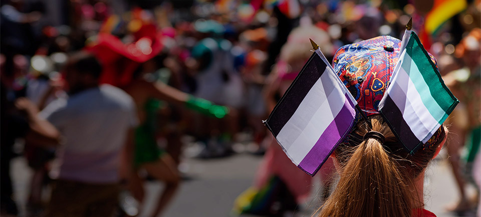
[[[425,31],[434,34],[444,22],[464,10],[466,6],[466,0],[434,0],[424,21]]]

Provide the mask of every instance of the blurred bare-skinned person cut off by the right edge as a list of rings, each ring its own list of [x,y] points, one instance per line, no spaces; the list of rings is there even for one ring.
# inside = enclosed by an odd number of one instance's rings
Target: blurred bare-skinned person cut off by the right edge
[[[447,210],[462,214],[469,211],[479,200],[479,190],[476,190],[474,197],[469,197],[466,185],[470,179],[470,167],[474,161],[476,153],[479,151],[481,142],[481,29],[472,29],[456,45],[454,56],[459,58],[464,67],[453,70],[443,78],[446,85],[461,100],[460,105],[451,115],[452,139],[448,140],[449,162],[452,167],[459,200],[457,203],[447,207]],[[461,149],[465,146],[467,156],[463,159]],[[465,175],[467,174],[467,175]]]

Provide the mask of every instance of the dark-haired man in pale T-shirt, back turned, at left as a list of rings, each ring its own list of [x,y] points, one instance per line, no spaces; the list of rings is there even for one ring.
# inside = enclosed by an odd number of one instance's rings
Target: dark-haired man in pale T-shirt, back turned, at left
[[[57,180],[46,216],[112,216],[119,168],[132,169],[121,165],[121,158],[122,153],[132,158],[135,104],[123,90],[99,85],[101,71],[93,55],[76,53],[65,67],[68,99],[55,100],[41,112],[26,98],[16,102],[28,114],[26,141],[58,146],[59,163],[51,171]]]

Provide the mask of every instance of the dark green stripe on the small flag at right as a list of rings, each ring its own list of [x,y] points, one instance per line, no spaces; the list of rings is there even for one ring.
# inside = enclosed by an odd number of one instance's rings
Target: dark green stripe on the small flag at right
[[[439,74],[439,71],[434,65],[434,62],[431,61],[431,58],[427,54],[427,51],[420,44],[421,42],[419,41],[416,33],[412,31],[411,37],[409,38],[409,41],[406,45],[406,52],[416,64],[424,82],[429,87],[431,97],[434,98],[436,103],[439,105],[439,107],[441,107],[442,110],[444,110],[445,113],[449,114],[454,109],[458,100],[446,87],[444,81],[441,78],[441,75]],[[414,81],[415,78],[413,78],[412,80]],[[418,88],[418,86],[416,86],[416,88]],[[430,107],[429,104],[425,105],[426,107]],[[442,118],[442,121],[444,121],[444,118]]]

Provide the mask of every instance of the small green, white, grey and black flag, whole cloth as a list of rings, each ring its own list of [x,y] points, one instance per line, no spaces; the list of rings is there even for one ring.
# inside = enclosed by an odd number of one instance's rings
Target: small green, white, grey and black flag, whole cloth
[[[379,111],[413,153],[436,132],[459,102],[414,31],[406,31],[400,57]],[[407,37],[407,38],[406,38]],[[407,42],[405,42],[405,40]]]

